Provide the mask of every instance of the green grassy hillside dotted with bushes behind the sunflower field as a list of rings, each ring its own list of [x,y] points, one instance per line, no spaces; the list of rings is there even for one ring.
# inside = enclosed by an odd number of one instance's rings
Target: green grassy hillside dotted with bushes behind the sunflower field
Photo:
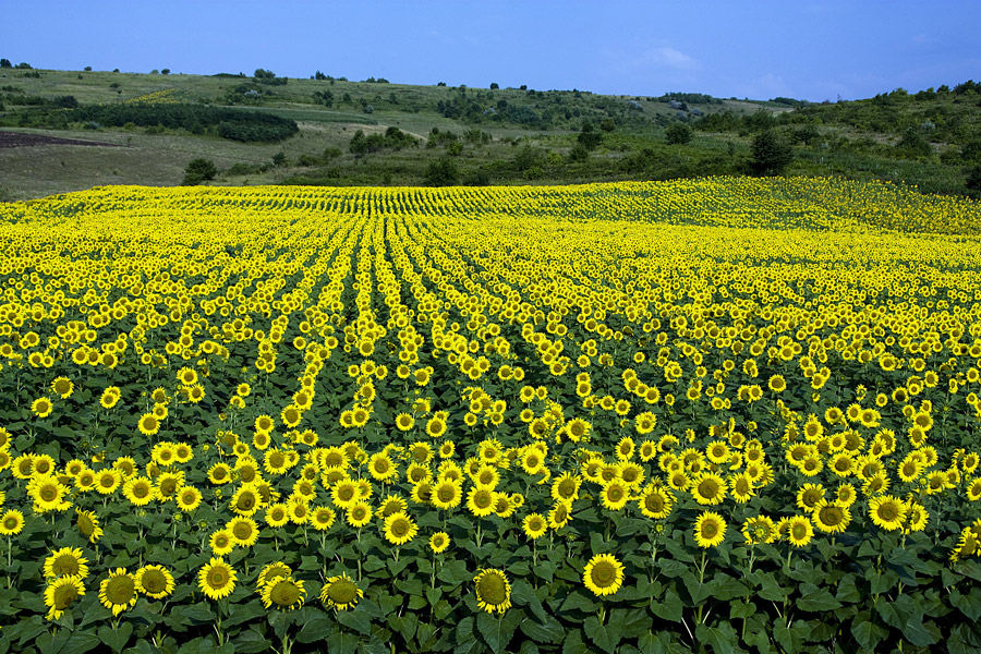
[[[981,152],[972,145],[981,122],[973,85],[813,106],[256,72],[2,69],[0,130],[8,134],[0,138],[0,199],[106,184],[180,184],[187,162],[199,157],[218,169],[208,183],[235,185],[564,184],[742,174],[750,170],[752,140],[763,130],[792,144],[786,174],[884,179],[968,194],[968,173]],[[170,116],[178,110],[194,117]],[[229,130],[228,117],[247,125],[254,112],[292,121],[295,134],[235,140],[243,132]],[[690,140],[668,143],[668,129],[679,123],[692,128]],[[364,140],[352,147],[358,131]],[[26,135],[93,146],[19,146]]]

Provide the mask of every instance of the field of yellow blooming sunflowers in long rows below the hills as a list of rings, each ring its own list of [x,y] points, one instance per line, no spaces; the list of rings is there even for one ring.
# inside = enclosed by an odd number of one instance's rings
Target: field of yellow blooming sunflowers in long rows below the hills
[[[981,649],[981,205],[0,204],[0,654]]]

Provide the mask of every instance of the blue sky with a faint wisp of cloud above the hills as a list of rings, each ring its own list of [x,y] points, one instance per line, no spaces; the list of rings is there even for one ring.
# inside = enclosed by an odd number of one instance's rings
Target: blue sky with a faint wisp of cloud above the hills
[[[3,4],[0,57],[47,69],[815,101],[981,80],[979,0]]]

